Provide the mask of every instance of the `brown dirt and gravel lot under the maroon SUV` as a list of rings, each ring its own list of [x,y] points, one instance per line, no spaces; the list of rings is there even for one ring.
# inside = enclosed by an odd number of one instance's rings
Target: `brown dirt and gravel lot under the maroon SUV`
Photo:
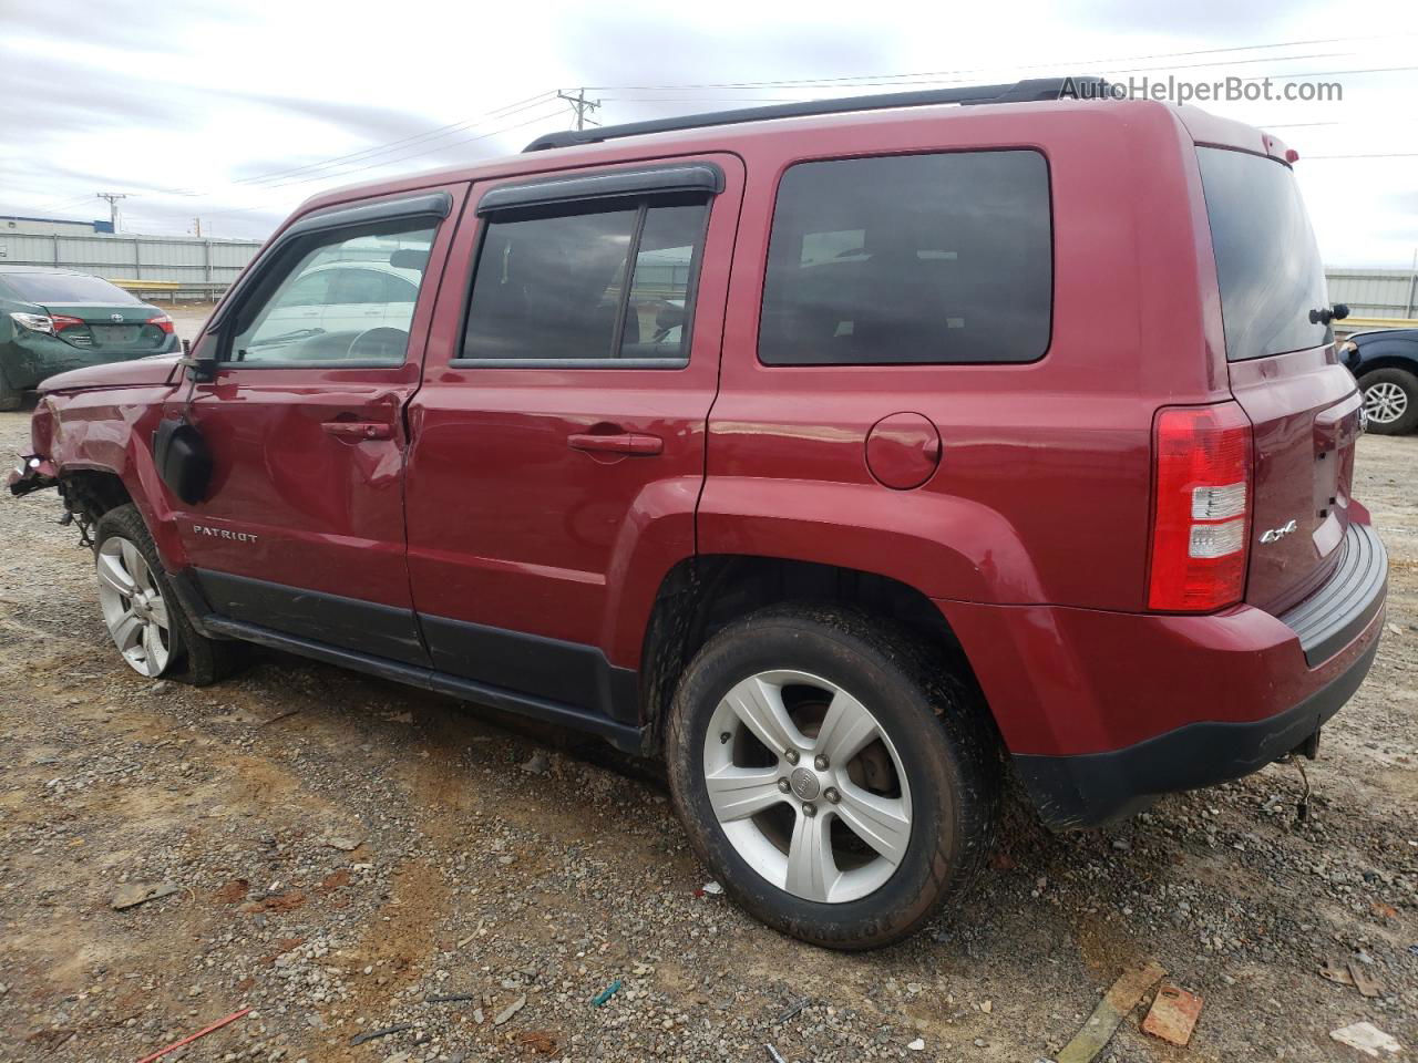
[[[0,451],[26,438],[0,415]],[[1205,998],[1193,1043],[1139,1009],[1100,1059],[1363,1060],[1329,1032],[1366,1019],[1412,1057],[1415,466],[1418,439],[1361,442],[1390,622],[1309,822],[1289,765],[1103,833],[1015,809],[983,889],[868,955],[699,893],[654,767],[597,744],[275,655],[139,679],[55,499],[0,499],[0,1059],[135,1060],[250,1006],[169,1059],[1032,1063],[1147,958]],[[115,911],[133,884],[176,890]]]

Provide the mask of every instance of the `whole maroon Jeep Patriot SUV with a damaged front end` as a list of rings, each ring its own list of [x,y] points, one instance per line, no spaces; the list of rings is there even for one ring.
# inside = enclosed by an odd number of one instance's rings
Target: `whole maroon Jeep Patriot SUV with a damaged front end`
[[[1275,137],[1061,82],[546,136],[322,194],[186,357],[50,380],[145,676],[254,642],[655,753],[864,948],[1052,828],[1313,755],[1383,626]]]

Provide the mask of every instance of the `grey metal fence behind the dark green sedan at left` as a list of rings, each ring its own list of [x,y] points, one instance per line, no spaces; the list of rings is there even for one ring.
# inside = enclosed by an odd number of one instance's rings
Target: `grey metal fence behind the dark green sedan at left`
[[[259,249],[254,240],[0,232],[0,264],[78,269],[170,296],[220,295]]]

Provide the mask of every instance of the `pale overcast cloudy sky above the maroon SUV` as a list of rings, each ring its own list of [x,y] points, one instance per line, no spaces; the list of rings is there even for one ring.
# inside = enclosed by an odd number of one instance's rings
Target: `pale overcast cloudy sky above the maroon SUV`
[[[186,232],[200,217],[204,234],[259,238],[322,189],[564,129],[571,112],[552,94],[581,85],[597,86],[598,118],[624,122],[889,79],[1299,74],[1341,82],[1343,101],[1205,106],[1300,152],[1329,264],[1409,266],[1415,44],[1412,0],[0,0],[0,214],[101,218],[94,194],[116,191],[130,194],[128,231]],[[685,88],[699,85],[712,88]]]

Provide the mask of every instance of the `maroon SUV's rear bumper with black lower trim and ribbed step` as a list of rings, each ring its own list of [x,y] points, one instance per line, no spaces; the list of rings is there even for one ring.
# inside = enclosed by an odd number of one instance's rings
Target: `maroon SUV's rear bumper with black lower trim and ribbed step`
[[[1283,617],[939,605],[1044,821],[1099,826],[1258,771],[1353,696],[1378,648],[1388,564],[1367,524],[1344,550]]]

